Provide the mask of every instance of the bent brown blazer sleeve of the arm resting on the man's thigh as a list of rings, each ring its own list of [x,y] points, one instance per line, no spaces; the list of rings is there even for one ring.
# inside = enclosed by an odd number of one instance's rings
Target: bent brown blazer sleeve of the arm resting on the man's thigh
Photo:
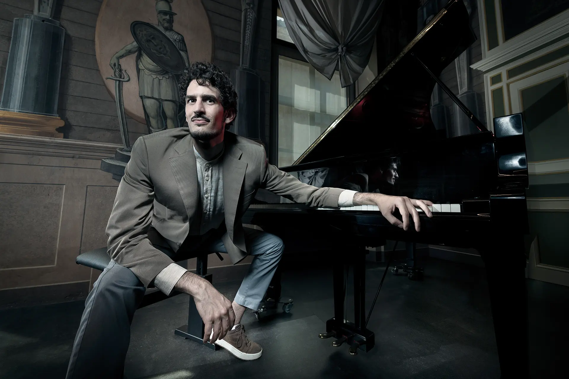
[[[152,223],[154,186],[149,176],[145,140],[136,140],[125,175],[118,185],[113,211],[106,227],[108,253],[148,287],[156,275],[173,263],[147,239]]]

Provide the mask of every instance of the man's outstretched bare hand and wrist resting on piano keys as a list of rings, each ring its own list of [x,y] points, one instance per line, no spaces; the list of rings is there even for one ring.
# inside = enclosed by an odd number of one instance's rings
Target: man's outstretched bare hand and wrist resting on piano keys
[[[403,230],[409,229],[409,214],[413,216],[415,230],[420,230],[419,213],[415,207],[422,209],[427,217],[432,217],[431,210],[428,209],[429,206],[432,206],[432,202],[428,200],[410,199],[406,196],[390,196],[380,193],[358,192],[354,194],[353,204],[377,205],[381,214],[387,219],[387,221],[392,225],[403,228]],[[393,215],[395,209],[399,210],[403,222]]]

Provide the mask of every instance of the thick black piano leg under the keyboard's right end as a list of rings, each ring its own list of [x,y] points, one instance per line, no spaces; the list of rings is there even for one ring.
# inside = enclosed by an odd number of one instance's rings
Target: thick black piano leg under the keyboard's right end
[[[479,250],[486,265],[502,379],[529,377],[526,259],[522,236],[491,239]]]

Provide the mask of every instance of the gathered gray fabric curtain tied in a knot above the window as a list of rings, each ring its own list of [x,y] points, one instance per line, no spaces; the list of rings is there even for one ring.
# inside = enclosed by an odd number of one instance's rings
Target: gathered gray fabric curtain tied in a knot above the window
[[[372,54],[385,0],[279,0],[288,34],[318,72],[353,84]]]

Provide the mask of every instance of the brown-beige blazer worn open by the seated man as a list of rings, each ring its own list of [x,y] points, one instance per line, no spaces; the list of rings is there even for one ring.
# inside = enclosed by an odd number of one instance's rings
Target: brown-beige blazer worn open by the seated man
[[[342,189],[300,182],[267,163],[262,145],[227,131],[224,143],[225,232],[221,231],[221,239],[233,264],[247,256],[241,217],[259,188],[309,206],[338,205]],[[110,257],[149,286],[173,262],[152,245],[150,227],[176,251],[192,226],[201,222],[199,199],[196,157],[188,128],[138,138],[106,228]]]

